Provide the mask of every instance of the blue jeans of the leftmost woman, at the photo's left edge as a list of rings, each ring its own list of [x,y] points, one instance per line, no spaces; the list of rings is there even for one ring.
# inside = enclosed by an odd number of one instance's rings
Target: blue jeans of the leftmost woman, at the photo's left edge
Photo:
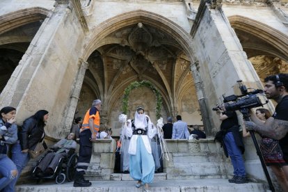
[[[10,184],[11,182],[13,182],[13,180],[16,180],[16,175],[13,176],[11,174],[12,170],[17,170],[15,164],[13,163],[13,161],[11,161],[11,159],[9,159],[9,157],[7,157],[6,154],[0,154],[0,191],[13,191],[13,190],[8,190],[7,185]]]

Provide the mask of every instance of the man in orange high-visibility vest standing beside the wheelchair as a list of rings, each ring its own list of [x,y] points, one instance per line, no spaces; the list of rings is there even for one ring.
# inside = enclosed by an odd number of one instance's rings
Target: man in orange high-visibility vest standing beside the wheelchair
[[[91,182],[84,179],[92,156],[92,142],[96,140],[96,134],[100,127],[101,101],[93,101],[92,107],[86,112],[80,129],[79,158],[75,173],[74,186],[91,186]]]

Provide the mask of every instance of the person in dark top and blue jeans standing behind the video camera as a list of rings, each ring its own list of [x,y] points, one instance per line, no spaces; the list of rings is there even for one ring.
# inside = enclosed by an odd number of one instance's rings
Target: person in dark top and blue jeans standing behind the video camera
[[[228,181],[230,183],[244,184],[248,183],[246,178],[246,170],[242,154],[244,152],[244,145],[242,138],[239,134],[239,123],[237,114],[235,111],[225,111],[225,108],[221,108],[216,113],[221,120],[221,132],[223,134],[223,150],[227,157],[230,156],[232,166],[234,168],[234,176]]]

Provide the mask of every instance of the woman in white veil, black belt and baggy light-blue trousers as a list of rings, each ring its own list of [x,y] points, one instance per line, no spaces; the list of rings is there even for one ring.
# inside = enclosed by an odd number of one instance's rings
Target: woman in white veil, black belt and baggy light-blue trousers
[[[155,170],[150,139],[156,134],[156,129],[149,116],[145,115],[143,106],[137,107],[135,119],[129,125],[127,134],[131,137],[128,150],[130,176],[138,181],[137,188],[144,184],[144,191],[149,191]]]

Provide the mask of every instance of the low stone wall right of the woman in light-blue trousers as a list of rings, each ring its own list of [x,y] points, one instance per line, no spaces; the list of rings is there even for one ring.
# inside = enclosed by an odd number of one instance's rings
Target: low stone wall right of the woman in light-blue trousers
[[[166,139],[169,154],[163,159],[167,179],[227,178],[233,175],[230,160],[214,138],[203,140]]]

